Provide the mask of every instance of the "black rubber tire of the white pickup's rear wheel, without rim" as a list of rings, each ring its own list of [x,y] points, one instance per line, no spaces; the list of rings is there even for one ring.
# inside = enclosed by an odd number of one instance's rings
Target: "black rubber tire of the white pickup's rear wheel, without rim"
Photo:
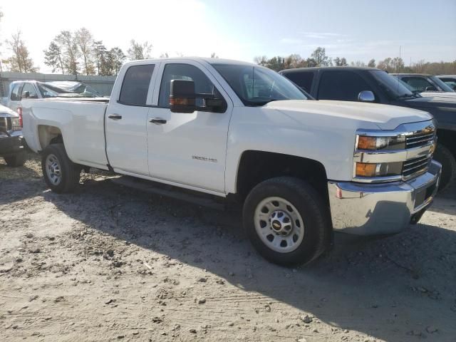
[[[60,181],[54,183],[46,170],[46,160],[48,156],[55,156],[60,165]],[[73,192],[79,185],[79,178],[81,176],[81,166],[73,163],[68,155],[66,154],[65,147],[63,144],[51,144],[46,147],[41,156],[41,170],[43,171],[43,177],[53,192],[58,194]]]

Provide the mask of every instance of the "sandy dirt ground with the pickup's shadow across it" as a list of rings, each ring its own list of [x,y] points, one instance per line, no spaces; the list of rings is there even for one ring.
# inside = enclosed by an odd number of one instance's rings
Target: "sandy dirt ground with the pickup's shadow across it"
[[[1,341],[456,341],[456,190],[311,266],[261,259],[232,213],[0,161]]]

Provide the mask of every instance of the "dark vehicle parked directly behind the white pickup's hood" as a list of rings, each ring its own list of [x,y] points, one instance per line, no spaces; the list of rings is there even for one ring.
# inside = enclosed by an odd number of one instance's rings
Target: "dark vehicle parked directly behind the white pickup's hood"
[[[317,100],[364,101],[425,110],[437,122],[434,159],[442,163],[440,189],[456,177],[456,98],[422,97],[376,68],[297,68],[280,72]]]

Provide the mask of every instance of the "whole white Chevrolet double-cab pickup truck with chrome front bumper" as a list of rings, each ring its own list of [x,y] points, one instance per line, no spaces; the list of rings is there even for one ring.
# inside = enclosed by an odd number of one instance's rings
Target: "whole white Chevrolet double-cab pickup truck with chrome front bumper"
[[[107,102],[24,100],[24,136],[51,190],[71,192],[96,167],[234,198],[252,244],[278,264],[315,259],[334,231],[400,232],[440,178],[430,114],[311,100],[251,63],[134,61]]]

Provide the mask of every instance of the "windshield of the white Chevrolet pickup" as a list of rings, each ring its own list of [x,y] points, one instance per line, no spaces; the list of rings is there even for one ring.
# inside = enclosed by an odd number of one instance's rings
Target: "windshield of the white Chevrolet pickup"
[[[212,63],[244,105],[261,106],[276,100],[307,100],[298,86],[275,71],[255,66]]]

